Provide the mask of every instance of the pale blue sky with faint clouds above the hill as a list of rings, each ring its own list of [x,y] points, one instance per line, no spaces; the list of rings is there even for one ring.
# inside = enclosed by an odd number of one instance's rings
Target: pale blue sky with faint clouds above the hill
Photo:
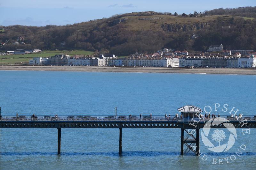
[[[194,13],[256,6],[255,0],[0,0],[0,25],[67,25],[128,12]]]

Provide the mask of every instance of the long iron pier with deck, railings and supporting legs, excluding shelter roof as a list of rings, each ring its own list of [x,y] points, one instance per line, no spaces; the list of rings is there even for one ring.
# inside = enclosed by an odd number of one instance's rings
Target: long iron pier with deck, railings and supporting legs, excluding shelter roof
[[[186,113],[183,113],[186,115]],[[228,123],[227,123],[228,122]],[[177,116],[141,116],[140,115],[68,115],[68,116],[3,116],[0,117],[1,128],[56,128],[58,130],[58,154],[61,148],[62,128],[119,128],[119,154],[122,154],[123,128],[177,128],[181,129],[180,153],[189,151],[199,155],[199,129],[201,128],[256,128],[256,117],[177,117]],[[192,129],[192,130],[189,130]],[[184,136],[185,131],[185,136]],[[196,136],[194,136],[196,135]],[[184,149],[184,145],[186,148]],[[194,150],[196,148],[196,150]]]

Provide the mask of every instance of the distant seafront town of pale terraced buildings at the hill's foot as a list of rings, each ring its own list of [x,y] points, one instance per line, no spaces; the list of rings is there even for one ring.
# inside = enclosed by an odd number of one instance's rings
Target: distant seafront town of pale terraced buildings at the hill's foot
[[[41,52],[40,49],[17,49],[12,54]],[[2,54],[3,55],[3,54]],[[159,49],[154,54],[135,53],[129,57],[113,54],[93,55],[54,55],[49,58],[34,57],[30,65],[76,65],[76,66],[123,66],[123,67],[204,67],[204,68],[256,68],[256,52],[252,50],[223,50],[223,46],[212,45],[206,53]]]

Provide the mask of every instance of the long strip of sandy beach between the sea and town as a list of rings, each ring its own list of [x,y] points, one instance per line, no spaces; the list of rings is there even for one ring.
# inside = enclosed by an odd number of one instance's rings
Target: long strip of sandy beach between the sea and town
[[[148,73],[205,73],[256,75],[256,69],[217,68],[154,68],[154,67],[88,67],[88,66],[0,66],[0,70],[29,71],[104,71],[104,72],[148,72]]]

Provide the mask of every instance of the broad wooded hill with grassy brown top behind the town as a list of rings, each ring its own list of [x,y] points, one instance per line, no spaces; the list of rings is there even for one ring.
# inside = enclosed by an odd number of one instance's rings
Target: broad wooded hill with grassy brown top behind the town
[[[66,26],[1,27],[5,30],[0,32],[0,42],[8,41],[2,50],[78,48],[97,54],[130,55],[165,47],[205,51],[213,44],[222,44],[225,49],[256,50],[256,7],[188,15],[132,12]],[[193,33],[198,38],[192,39]],[[13,44],[15,41],[19,44]]]

